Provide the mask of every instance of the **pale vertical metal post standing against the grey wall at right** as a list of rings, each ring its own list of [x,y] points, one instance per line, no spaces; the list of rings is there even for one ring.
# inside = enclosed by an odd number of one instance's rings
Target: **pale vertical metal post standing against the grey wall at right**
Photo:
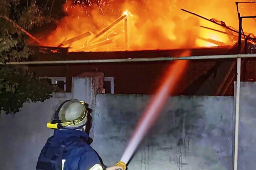
[[[234,170],[237,170],[237,165],[238,165],[238,132],[239,132],[239,106],[240,106],[240,78],[241,78],[241,58],[237,58],[236,98],[235,98]]]

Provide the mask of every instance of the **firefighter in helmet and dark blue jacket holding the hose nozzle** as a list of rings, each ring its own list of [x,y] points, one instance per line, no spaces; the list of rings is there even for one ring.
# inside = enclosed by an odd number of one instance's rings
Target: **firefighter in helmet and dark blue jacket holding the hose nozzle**
[[[36,170],[125,170],[126,165],[105,168],[100,157],[86,142],[88,104],[76,99],[64,101],[47,127],[54,129],[41,150]]]

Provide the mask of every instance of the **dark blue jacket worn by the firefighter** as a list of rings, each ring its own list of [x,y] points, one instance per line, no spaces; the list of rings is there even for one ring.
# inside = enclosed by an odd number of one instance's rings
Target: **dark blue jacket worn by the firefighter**
[[[80,130],[55,130],[41,150],[36,170],[102,170],[99,156],[86,142],[88,138]]]

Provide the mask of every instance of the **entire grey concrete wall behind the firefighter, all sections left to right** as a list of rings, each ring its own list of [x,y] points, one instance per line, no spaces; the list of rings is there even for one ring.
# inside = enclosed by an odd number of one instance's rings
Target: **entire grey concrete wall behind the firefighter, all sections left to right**
[[[80,81],[80,86],[86,84]],[[256,84],[241,86],[239,170],[254,169]],[[79,90],[79,89],[77,89]],[[74,93],[76,94],[76,93]],[[64,93],[41,103],[24,104],[16,115],[0,118],[0,169],[35,170],[47,138],[46,128],[56,107],[70,98]],[[85,93],[87,94],[87,93]],[[97,95],[93,106],[92,146],[107,165],[118,161],[127,146],[147,95]],[[129,170],[231,170],[232,97],[173,97],[129,164]]]

